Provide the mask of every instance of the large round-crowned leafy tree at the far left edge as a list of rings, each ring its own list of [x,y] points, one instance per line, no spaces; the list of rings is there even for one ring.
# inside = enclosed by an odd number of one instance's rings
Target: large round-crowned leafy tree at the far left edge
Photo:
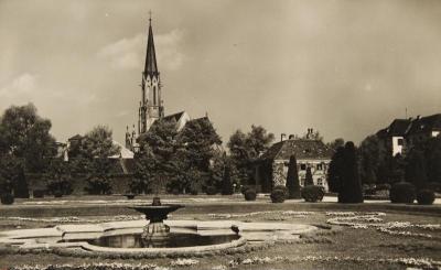
[[[34,105],[11,106],[0,122],[0,148],[3,153],[21,159],[29,172],[42,172],[56,154],[51,121],[37,115]]]

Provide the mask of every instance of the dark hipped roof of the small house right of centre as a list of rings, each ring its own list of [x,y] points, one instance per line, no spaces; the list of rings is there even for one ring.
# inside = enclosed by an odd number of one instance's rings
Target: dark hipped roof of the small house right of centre
[[[272,144],[260,160],[289,160],[291,155],[301,159],[331,159],[334,151],[320,140],[293,139]]]

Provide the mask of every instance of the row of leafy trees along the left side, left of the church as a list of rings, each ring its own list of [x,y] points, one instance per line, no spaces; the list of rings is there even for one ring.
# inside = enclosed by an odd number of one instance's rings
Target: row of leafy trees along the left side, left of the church
[[[25,175],[43,175],[52,193],[69,194],[74,179],[87,181],[90,193],[106,193],[111,170],[108,156],[118,153],[111,130],[98,126],[71,148],[69,162],[57,156],[57,144],[50,133],[51,121],[37,115],[34,105],[11,106],[0,118],[0,193],[28,197]],[[106,184],[107,183],[107,184]]]

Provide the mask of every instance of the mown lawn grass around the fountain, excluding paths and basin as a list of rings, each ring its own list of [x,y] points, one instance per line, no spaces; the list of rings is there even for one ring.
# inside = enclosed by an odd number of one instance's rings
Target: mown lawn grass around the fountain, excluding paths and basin
[[[89,197],[90,198],[90,197]],[[119,199],[122,197],[106,196],[93,197],[94,199]],[[146,197],[149,199],[150,197]],[[176,212],[172,219],[201,219],[209,220],[208,214],[244,214],[250,212],[269,212],[252,216],[236,217],[233,219],[243,222],[282,222],[298,224],[325,224],[330,218],[325,212],[386,212],[381,217],[384,222],[410,222],[412,224],[440,224],[440,206],[418,206],[418,205],[391,205],[381,204],[359,204],[341,205],[336,203],[299,203],[286,202],[283,204],[268,203],[268,198],[259,198],[257,202],[244,202],[237,197],[223,197],[218,202],[192,201],[192,196],[166,196],[164,201],[176,198],[186,202],[186,207]],[[201,196],[196,196],[201,198]],[[203,198],[203,197],[202,197]],[[65,198],[61,198],[65,199]],[[69,198],[71,199],[71,198]],[[85,197],[74,198],[72,201],[83,201]],[[29,206],[21,204],[13,206],[1,206],[0,216],[22,216],[22,217],[60,217],[60,216],[88,216],[92,218],[105,218],[112,215],[138,215],[127,209],[123,205],[86,205],[75,207],[75,203],[63,206]],[[426,212],[421,212],[421,209]],[[428,210],[429,209],[429,210]],[[295,217],[281,215],[280,210],[309,210],[312,215]],[[47,222],[20,222],[8,218],[0,219],[1,230],[20,228],[50,227],[55,224]],[[336,226],[338,227],[338,226]],[[277,244],[263,250],[252,251],[240,255],[223,255],[205,258],[193,258],[198,261],[193,267],[171,267],[170,259],[144,259],[144,260],[107,260],[98,259],[100,262],[119,261],[123,263],[155,263],[165,268],[173,269],[220,269],[220,266],[228,268],[230,261],[247,261],[252,258],[268,257],[267,263],[244,264],[239,263],[237,269],[406,269],[405,264],[395,262],[384,263],[380,259],[394,258],[429,258],[431,260],[441,260],[441,230],[426,230],[434,239],[419,237],[390,236],[376,230],[354,229],[349,227],[340,227],[333,234],[326,234],[318,237],[305,238],[298,244]],[[415,229],[419,233],[418,229]],[[305,259],[306,256],[315,259]],[[275,259],[279,258],[279,259]],[[338,258],[336,261],[335,259]],[[359,258],[359,260],[356,260]],[[372,261],[368,261],[372,260]],[[252,260],[248,260],[252,261]],[[41,255],[9,255],[0,253],[0,269],[15,264],[56,264],[97,262],[97,259],[84,259],[74,257],[60,257],[51,253]]]

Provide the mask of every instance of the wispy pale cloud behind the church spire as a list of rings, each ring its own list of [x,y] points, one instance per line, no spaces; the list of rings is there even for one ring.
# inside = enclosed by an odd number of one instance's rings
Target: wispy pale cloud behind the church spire
[[[181,52],[183,32],[174,29],[165,34],[154,35],[158,65],[168,71],[179,69],[185,55]],[[130,39],[123,37],[101,47],[97,56],[118,69],[141,69],[146,60],[147,36],[139,33]]]

